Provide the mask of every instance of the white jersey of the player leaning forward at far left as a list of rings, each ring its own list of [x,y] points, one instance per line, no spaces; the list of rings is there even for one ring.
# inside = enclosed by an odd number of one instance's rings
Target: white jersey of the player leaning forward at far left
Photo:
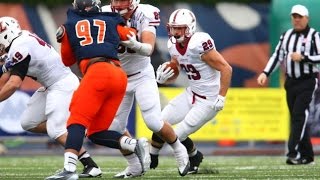
[[[70,68],[62,63],[58,52],[37,35],[23,30],[17,37],[8,52],[8,60],[13,61],[13,66],[30,55],[31,60],[27,76],[32,77],[45,87],[49,87],[67,74]]]

